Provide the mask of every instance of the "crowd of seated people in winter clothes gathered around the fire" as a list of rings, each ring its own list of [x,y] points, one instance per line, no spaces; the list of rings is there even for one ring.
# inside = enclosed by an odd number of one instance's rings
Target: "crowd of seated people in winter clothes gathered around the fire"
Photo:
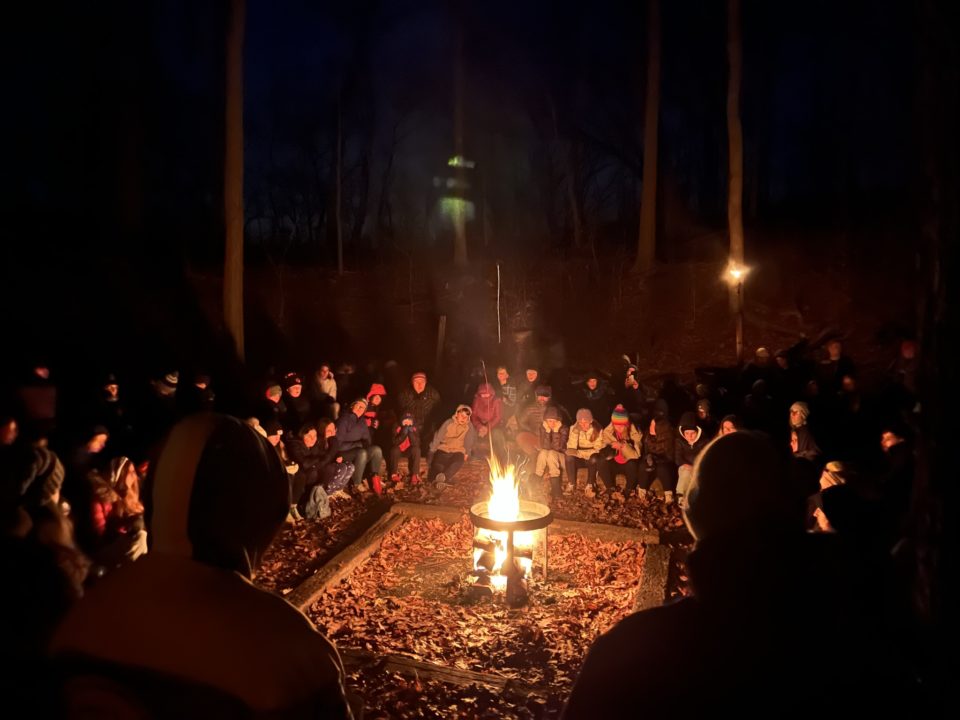
[[[551,502],[583,492],[687,509],[704,449],[750,431],[802,460],[807,531],[856,527],[891,548],[910,531],[915,347],[905,341],[872,384],[839,340],[822,350],[759,348],[736,375],[689,386],[644,383],[636,365],[577,373],[531,364],[513,368],[515,382],[500,365],[491,377],[470,373],[462,392],[446,397],[421,370],[404,378],[395,364],[359,373],[322,363],[306,382],[297,370],[271,374],[229,409],[282,470],[288,522],[322,520],[331,502],[391,485],[442,488],[465,463],[490,455],[519,462],[525,490]],[[36,571],[49,597],[37,602],[24,590],[17,601],[35,621],[18,630],[29,667],[86,588],[153,551],[151,459],[171,428],[227,408],[207,373],[170,370],[129,386],[106,375],[89,392],[74,388],[69,397],[86,400],[71,408],[47,365],[6,380],[6,559],[15,572],[35,557],[51,569],[42,580]]]

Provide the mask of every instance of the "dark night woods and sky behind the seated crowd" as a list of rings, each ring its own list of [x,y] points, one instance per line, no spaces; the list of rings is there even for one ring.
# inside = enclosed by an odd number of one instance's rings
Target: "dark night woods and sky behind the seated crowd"
[[[77,379],[197,366],[239,400],[271,364],[307,369],[320,352],[428,362],[441,313],[449,352],[479,355],[496,337],[497,261],[508,335],[532,327],[583,363],[608,359],[598,347],[654,363],[683,327],[708,345],[670,363],[721,361],[708,330],[720,318],[728,334],[723,302],[698,308],[721,297],[727,255],[724,2],[661,3],[659,263],[638,277],[646,3],[248,0],[246,368],[220,319],[227,9],[9,8],[6,373],[38,359]],[[956,387],[954,4],[745,0],[741,18],[747,298],[767,312],[754,334],[794,314],[794,336],[836,322],[842,295],[848,331],[919,335],[925,532],[940,537],[954,492],[938,442]],[[453,154],[458,57],[477,167],[470,264],[455,272],[434,179]],[[928,570],[949,560],[931,553]],[[926,602],[949,605],[936,589]]]

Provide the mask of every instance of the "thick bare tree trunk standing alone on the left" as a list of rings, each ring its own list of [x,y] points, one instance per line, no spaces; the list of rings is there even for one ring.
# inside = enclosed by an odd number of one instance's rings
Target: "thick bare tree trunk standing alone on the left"
[[[230,0],[226,58],[226,148],[223,210],[226,246],[223,315],[243,360],[243,34],[246,0]]]

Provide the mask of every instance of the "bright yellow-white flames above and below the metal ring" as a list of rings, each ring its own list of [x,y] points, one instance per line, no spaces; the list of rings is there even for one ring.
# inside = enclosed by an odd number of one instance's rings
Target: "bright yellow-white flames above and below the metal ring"
[[[511,521],[521,519],[520,515],[520,488],[516,467],[512,464],[503,467],[496,455],[491,453],[490,460],[490,500],[487,506],[487,517],[493,520]],[[507,561],[507,533],[496,530],[478,528],[477,539],[493,544],[493,567],[487,568],[490,573],[490,585],[496,591],[503,591],[507,585],[507,576],[503,564]],[[513,545],[515,557],[520,565],[523,577],[530,573],[533,564],[532,548],[536,540],[534,532],[515,532]],[[473,551],[473,566],[478,569],[485,551],[476,548]]]

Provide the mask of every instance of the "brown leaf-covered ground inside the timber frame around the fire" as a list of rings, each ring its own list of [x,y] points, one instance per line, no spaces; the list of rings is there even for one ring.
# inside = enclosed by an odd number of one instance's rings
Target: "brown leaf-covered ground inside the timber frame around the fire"
[[[472,539],[466,518],[411,518],[308,614],[342,648],[495,673],[565,697],[593,640],[631,612],[642,545],[551,533],[547,582],[535,575],[530,603],[511,610],[465,592],[456,570],[469,563]]]

